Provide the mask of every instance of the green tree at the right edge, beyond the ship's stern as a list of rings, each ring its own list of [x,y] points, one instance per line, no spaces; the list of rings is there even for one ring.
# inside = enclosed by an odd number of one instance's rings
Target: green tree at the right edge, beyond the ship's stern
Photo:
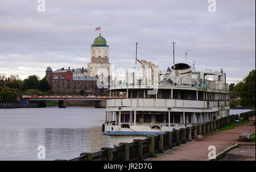
[[[242,106],[255,108],[255,70],[250,71],[246,78],[234,87],[234,91],[241,98]]]

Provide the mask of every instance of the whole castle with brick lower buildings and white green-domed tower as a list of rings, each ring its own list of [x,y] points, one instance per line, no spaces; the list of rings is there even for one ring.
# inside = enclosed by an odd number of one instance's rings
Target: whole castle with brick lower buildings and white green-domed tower
[[[91,63],[88,68],[60,68],[52,71],[46,69],[46,79],[53,92],[96,92],[102,94],[109,91],[110,76],[109,46],[104,37],[98,36],[91,46]],[[108,81],[108,83],[106,83]],[[98,87],[100,85],[100,87]],[[106,87],[107,86],[107,87]]]

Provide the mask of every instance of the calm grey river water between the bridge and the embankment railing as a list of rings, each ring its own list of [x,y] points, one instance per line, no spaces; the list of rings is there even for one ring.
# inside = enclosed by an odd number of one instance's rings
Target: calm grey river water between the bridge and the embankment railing
[[[0,109],[0,160],[39,160],[39,145],[46,148],[45,160],[113,147],[110,137],[101,135],[104,121],[105,109],[88,107]]]

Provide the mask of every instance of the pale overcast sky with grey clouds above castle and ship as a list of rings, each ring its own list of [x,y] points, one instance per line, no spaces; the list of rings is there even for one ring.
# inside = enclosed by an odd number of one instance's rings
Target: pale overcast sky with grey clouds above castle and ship
[[[99,35],[109,45],[109,62],[118,68],[138,59],[167,70],[185,62],[197,71],[223,71],[237,83],[255,69],[255,0],[1,0],[0,74],[45,76],[48,66],[86,68],[90,46]],[[208,70],[208,71],[209,71]]]

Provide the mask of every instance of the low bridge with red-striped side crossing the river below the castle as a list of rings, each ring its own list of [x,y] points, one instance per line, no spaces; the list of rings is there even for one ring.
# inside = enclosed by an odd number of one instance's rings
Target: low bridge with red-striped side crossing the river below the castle
[[[106,108],[109,96],[23,96],[28,101],[59,101],[59,108],[66,108],[67,100],[95,101],[95,108]]]

